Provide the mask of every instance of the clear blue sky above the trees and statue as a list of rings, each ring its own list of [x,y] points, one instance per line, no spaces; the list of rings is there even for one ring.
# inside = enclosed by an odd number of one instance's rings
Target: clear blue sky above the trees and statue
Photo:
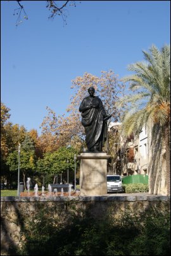
[[[18,4],[1,1],[1,101],[27,131],[40,134],[46,106],[66,113],[77,76],[112,69],[121,78],[142,50],[170,44],[170,1],[75,1],[67,25],[48,19],[46,1],[20,3],[28,20],[16,27]]]

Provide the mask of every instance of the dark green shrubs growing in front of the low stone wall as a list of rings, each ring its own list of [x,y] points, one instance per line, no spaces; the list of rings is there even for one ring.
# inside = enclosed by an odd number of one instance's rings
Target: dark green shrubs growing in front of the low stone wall
[[[28,222],[16,255],[170,255],[168,211],[127,210],[115,218],[108,211],[103,220],[73,213],[67,222],[52,212],[42,209]]]

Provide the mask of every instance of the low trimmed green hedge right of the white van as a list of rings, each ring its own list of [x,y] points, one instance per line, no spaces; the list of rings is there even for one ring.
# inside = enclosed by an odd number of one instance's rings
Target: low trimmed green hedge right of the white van
[[[125,193],[148,192],[148,184],[135,183],[122,185]]]

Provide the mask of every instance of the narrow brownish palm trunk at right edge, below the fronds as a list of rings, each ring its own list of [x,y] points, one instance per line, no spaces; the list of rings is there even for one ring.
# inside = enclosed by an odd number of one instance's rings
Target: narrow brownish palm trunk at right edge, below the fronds
[[[166,168],[167,168],[167,195],[170,195],[170,129],[165,127],[165,150],[166,150]]]

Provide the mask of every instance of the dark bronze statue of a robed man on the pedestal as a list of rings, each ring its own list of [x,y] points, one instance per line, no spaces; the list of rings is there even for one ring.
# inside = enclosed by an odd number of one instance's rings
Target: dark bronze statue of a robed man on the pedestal
[[[85,129],[85,142],[88,152],[102,152],[107,135],[106,120],[111,116],[106,115],[101,99],[94,96],[94,88],[90,87],[88,92],[89,96],[83,99],[79,108]]]

